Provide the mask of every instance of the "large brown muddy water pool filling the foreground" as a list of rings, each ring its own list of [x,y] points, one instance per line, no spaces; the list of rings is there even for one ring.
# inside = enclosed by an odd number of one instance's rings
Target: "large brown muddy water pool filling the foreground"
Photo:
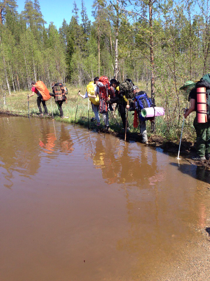
[[[0,132],[1,281],[156,280],[199,239],[203,167],[49,119]]]

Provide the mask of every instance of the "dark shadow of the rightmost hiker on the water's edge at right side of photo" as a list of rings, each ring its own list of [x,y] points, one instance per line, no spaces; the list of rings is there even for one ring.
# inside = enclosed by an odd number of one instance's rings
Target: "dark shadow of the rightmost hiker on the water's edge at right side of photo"
[[[178,167],[178,170],[183,174],[188,174],[189,176],[198,179],[199,181],[204,181],[210,184],[210,171],[205,170],[204,166],[196,166],[187,163],[170,163],[173,166]]]

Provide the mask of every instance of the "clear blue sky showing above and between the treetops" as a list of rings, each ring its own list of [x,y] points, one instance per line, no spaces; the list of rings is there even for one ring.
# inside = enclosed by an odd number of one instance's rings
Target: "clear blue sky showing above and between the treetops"
[[[44,20],[46,20],[47,24],[46,27],[49,25],[51,21],[54,22],[57,29],[60,28],[62,25],[63,19],[67,21],[67,23],[70,22],[72,17],[72,10],[73,10],[73,0],[39,0],[39,4],[41,7],[41,12],[43,14]],[[92,11],[92,0],[85,0],[85,6],[87,8],[87,14],[88,18],[93,21],[94,18],[91,16]],[[81,12],[81,0],[76,0],[77,7],[79,8],[79,15]],[[24,10],[25,0],[17,0],[17,11],[18,13],[21,13],[21,11]],[[60,17],[57,15],[60,12]],[[81,16],[80,16],[81,20]]]

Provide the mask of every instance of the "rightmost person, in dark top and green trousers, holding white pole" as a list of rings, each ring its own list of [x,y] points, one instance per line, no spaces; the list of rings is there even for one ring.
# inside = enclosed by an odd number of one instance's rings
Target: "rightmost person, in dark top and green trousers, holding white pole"
[[[198,82],[199,83],[199,82]],[[193,121],[193,126],[196,132],[196,156],[192,156],[192,160],[201,161],[201,160],[209,160],[210,157],[210,120],[209,115],[207,114],[206,123],[198,123],[198,110],[197,110],[197,88],[201,88],[202,85],[197,85],[190,91],[189,99],[190,99],[190,107],[189,109],[185,109],[184,117],[195,111],[196,116]],[[208,106],[208,93],[206,92],[206,107],[207,112],[209,112]]]

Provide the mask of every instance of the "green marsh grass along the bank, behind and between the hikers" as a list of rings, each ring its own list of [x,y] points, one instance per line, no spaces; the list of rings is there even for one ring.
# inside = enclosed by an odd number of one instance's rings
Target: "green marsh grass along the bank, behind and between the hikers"
[[[78,102],[78,110],[77,110],[77,115],[76,115],[76,124],[81,124],[84,126],[88,126],[88,99],[83,100],[81,97],[79,97],[78,100],[78,91],[80,88],[75,88],[73,86],[68,87],[68,92],[69,94],[67,95],[67,103],[63,103],[62,108],[64,112],[64,116],[69,116],[68,119],[60,119],[60,112],[57,108],[57,105],[55,104],[55,100],[52,97],[52,107],[51,107],[51,101],[48,100],[46,101],[46,105],[48,108],[48,111],[50,114],[52,114],[52,108],[53,108],[53,115],[54,119],[62,122],[67,122],[67,123],[74,123],[75,119],[75,114],[76,114],[76,107],[77,107],[77,102]],[[139,87],[141,90],[146,90],[145,85],[139,84]],[[85,87],[83,87],[83,90],[81,90],[81,93],[85,93]],[[31,91],[21,91],[21,92],[13,92],[11,95],[7,93],[6,95],[6,105],[4,105],[3,102],[3,95],[0,95],[0,109],[1,110],[7,110],[11,112],[15,112],[20,115],[28,115],[28,99],[27,99],[27,94],[31,94]],[[29,112],[30,115],[36,116],[39,113],[37,103],[36,103],[36,95],[33,97],[29,98]],[[181,106],[184,106],[184,101],[181,101],[182,104]],[[163,98],[158,98],[156,97],[156,105],[157,106],[164,106],[164,99]],[[41,104],[42,107],[42,104]],[[173,108],[173,101],[171,102],[171,108]],[[43,107],[42,107],[43,109]],[[43,110],[44,112],[44,110]],[[131,132],[139,132],[139,128],[134,128],[133,127],[133,119],[134,116],[132,115],[133,112],[129,112],[128,114],[128,119],[129,119],[129,127]],[[92,112],[92,107],[90,103],[90,111],[89,111],[89,120],[92,117],[95,117],[94,113]],[[193,114],[190,114],[190,119],[187,119],[184,123],[184,133],[183,133],[183,139],[188,140],[188,141],[194,141],[195,140],[195,133],[193,129],[193,119],[194,117],[192,116]],[[102,115],[101,116],[101,127],[103,127],[103,121],[102,121]],[[112,117],[112,114],[109,113],[109,121],[110,121],[110,128],[113,131],[120,132],[122,131],[122,120],[118,114],[118,110],[116,110],[115,114],[115,119],[117,122],[114,120]],[[189,118],[189,117],[188,117]],[[162,117],[157,117],[155,119],[156,122],[156,132],[155,134],[158,136],[164,137],[166,140],[170,140],[173,142],[178,142],[180,139],[181,135],[181,127],[182,127],[182,122],[183,122],[183,115],[180,116],[180,120],[178,120],[178,114],[174,115],[173,118],[171,118],[171,123],[168,124],[167,122],[167,117],[162,116]],[[178,122],[179,121],[179,122]],[[91,129],[96,129],[96,122],[89,122],[90,128]],[[120,124],[120,126],[119,126]],[[147,133],[148,137],[153,136],[153,133],[151,133],[151,123],[150,121],[147,121]]]

